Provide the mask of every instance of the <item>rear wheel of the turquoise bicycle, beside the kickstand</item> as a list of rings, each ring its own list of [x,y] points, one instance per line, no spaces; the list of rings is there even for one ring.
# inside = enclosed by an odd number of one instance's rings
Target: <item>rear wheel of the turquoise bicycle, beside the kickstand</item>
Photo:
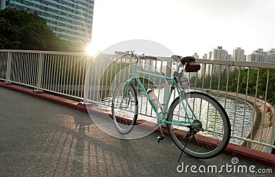
[[[195,129],[194,137],[188,137],[190,127],[179,125],[188,121]],[[175,145],[194,158],[212,158],[228,145],[231,128],[228,114],[221,104],[208,94],[188,92],[181,103],[177,97],[170,105],[168,131]],[[177,122],[177,123],[176,123]]]

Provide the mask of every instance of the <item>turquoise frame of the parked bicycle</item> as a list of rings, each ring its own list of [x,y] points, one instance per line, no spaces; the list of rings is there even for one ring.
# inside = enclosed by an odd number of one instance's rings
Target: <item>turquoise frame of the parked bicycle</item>
[[[157,111],[157,108],[155,107],[155,105],[153,104],[153,102],[151,101],[151,98],[148,96],[142,82],[140,81],[139,77],[137,76],[137,74],[143,74],[143,75],[146,75],[146,76],[153,76],[153,77],[156,77],[156,78],[159,78],[159,79],[166,79],[166,81],[172,81],[172,84],[170,85],[170,92],[168,94],[168,97],[166,99],[166,103],[164,104],[164,108],[162,110],[162,115]],[[128,89],[129,87],[129,84],[131,82],[133,82],[133,80],[137,81],[137,84],[140,86],[140,88],[142,89],[142,92],[144,93],[144,95],[146,96],[146,98],[148,99],[149,103],[151,104],[151,106],[153,107],[153,110],[155,111],[155,114],[157,114],[157,118],[159,121],[161,121],[161,123],[167,123],[167,124],[173,124],[173,125],[179,125],[179,126],[184,126],[184,127],[187,127],[188,125],[191,125],[192,126],[192,122],[190,121],[190,116],[188,115],[188,112],[187,112],[187,109],[186,109],[186,106],[188,106],[188,108],[190,109],[190,111],[192,112],[192,116],[194,116],[195,118],[197,118],[192,110],[192,107],[189,105],[189,103],[187,102],[186,99],[183,99],[181,98],[181,93],[179,91],[179,86],[177,85],[175,79],[173,78],[170,78],[170,77],[166,77],[166,76],[161,76],[161,75],[157,75],[157,74],[151,74],[151,73],[148,73],[148,72],[142,72],[142,71],[139,71],[139,70],[136,70],[135,67],[134,67],[134,70],[133,70],[133,73],[132,73],[132,76],[131,76],[131,79],[129,79],[126,83],[126,87],[125,87],[125,90]],[[174,120],[173,122],[172,121],[166,121],[166,115],[168,114],[167,112],[167,109],[168,109],[168,103],[170,101],[170,97],[172,95],[172,92],[173,90],[175,90],[175,88],[177,89],[177,92],[179,94],[179,98],[180,98],[180,101],[181,101],[181,105],[184,107],[184,111],[185,111],[185,114],[186,114],[186,117],[188,119],[188,121],[176,121]],[[123,94],[123,97],[125,96],[125,92]],[[122,98],[123,99],[123,98]],[[184,100],[186,102],[186,105],[184,104]]]

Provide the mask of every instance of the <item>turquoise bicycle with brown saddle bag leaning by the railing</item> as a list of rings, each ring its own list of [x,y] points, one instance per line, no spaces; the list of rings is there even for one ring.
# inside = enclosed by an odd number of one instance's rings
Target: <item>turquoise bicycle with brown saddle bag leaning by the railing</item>
[[[138,55],[133,51],[115,53],[122,54],[121,57],[130,56],[136,60],[136,64],[140,59],[157,60],[155,56]],[[212,96],[203,92],[186,92],[186,86],[189,86],[189,83],[184,78],[184,71],[197,72],[200,69],[200,65],[195,63],[194,57],[173,55],[172,59],[177,62],[177,71],[173,73],[173,78],[144,72],[134,67],[131,79],[118,84],[113,92],[111,105],[115,128],[120,134],[129,134],[137,123],[138,98],[134,87],[136,82],[157,115],[157,125],[161,134],[157,137],[158,143],[164,139],[162,131],[164,124],[170,138],[181,150],[181,155],[184,152],[193,158],[217,156],[225,149],[230,140],[231,127],[228,114]],[[146,91],[137,74],[170,81],[170,92],[160,111],[159,105],[155,104],[155,100],[149,96],[150,93]],[[179,96],[175,98],[168,109],[173,91],[177,92]]]

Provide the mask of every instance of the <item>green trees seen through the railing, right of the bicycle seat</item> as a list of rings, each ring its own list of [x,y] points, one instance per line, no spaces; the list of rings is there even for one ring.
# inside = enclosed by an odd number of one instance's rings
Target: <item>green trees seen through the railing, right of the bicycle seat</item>
[[[240,76],[239,76],[240,72]],[[220,86],[219,90],[226,91],[226,83],[227,83],[227,76],[228,76],[228,92],[238,92],[241,94],[245,94],[246,89],[248,89],[248,95],[254,96],[256,94],[256,81],[257,81],[258,70],[250,69],[249,71],[249,81],[248,81],[248,69],[242,70],[234,70],[232,72],[221,72],[220,77]],[[211,79],[212,78],[212,79]],[[239,85],[238,85],[239,80]],[[197,79],[197,87],[202,87],[202,78]],[[247,87],[248,81],[248,87]],[[190,83],[195,85],[195,77],[190,79]],[[219,76],[212,75],[206,76],[203,83],[203,88],[210,88],[217,90],[218,83],[219,83]],[[266,90],[266,83],[267,83],[267,69],[259,70],[259,81],[258,81],[258,90],[257,96],[265,96]],[[267,99],[275,100],[275,70],[270,70],[269,73],[269,80],[267,85]]]

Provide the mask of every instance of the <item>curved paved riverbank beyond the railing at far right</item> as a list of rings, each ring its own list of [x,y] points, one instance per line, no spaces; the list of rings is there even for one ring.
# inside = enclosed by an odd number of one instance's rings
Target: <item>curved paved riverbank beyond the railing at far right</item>
[[[218,93],[217,90],[210,90],[210,92],[215,94]],[[265,103],[265,101],[259,98],[256,98],[255,103],[255,97],[245,96],[244,94],[236,94],[233,92],[219,91],[219,94],[227,95],[233,98],[239,98],[252,105],[252,107],[254,107],[254,112],[256,116],[254,116],[254,123],[252,125],[252,128],[250,129],[250,133],[247,135],[247,138],[252,137],[252,140],[255,140],[257,142],[273,145],[275,137],[275,134],[272,137],[272,127],[274,126],[274,107],[270,105],[270,103]],[[262,152],[271,153],[272,151],[271,147],[266,147],[257,143],[251,143],[251,145],[248,145],[247,141],[244,141],[242,145],[251,147],[252,149],[256,149]]]

